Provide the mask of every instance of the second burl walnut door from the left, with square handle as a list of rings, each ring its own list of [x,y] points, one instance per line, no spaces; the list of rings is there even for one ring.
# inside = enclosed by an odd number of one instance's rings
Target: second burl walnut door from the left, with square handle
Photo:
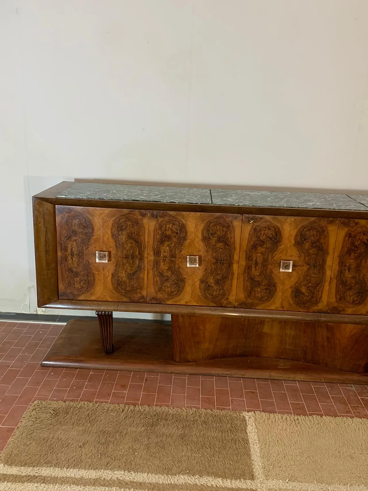
[[[147,301],[235,306],[241,216],[152,212]]]

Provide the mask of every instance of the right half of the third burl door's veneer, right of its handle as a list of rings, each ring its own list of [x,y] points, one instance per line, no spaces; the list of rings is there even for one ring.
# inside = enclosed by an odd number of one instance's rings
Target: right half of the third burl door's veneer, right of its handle
[[[288,218],[286,259],[282,273],[282,310],[325,312],[338,222],[331,218]]]

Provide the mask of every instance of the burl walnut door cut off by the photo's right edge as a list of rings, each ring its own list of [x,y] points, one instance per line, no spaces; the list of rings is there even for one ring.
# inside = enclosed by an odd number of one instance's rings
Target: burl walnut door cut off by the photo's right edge
[[[368,314],[368,220],[339,221],[327,311]]]

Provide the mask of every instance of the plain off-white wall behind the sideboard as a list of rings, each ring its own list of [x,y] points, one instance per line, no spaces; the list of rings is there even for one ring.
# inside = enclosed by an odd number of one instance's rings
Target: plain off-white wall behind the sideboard
[[[368,189],[367,0],[2,0],[0,311],[60,180]]]

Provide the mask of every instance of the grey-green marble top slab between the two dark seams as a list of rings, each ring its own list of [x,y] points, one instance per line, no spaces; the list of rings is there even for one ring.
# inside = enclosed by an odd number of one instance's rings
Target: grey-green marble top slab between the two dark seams
[[[211,194],[214,205],[368,211],[368,197],[366,207],[347,194],[225,189],[211,189]]]

